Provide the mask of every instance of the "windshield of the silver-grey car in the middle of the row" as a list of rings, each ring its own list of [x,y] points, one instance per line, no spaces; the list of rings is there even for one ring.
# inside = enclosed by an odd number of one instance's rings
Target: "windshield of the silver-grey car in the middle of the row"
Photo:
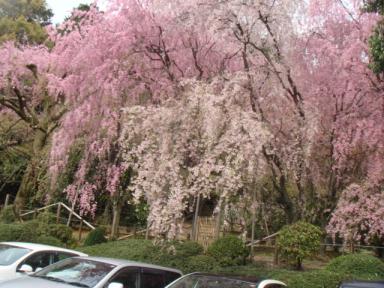
[[[116,266],[108,263],[68,258],[35,273],[32,277],[70,284],[77,287],[94,287]]]

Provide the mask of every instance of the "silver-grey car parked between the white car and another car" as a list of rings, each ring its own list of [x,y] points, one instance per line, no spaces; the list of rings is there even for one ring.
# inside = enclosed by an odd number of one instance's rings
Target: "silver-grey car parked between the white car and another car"
[[[164,288],[181,271],[133,261],[75,257],[50,265],[0,288]]]

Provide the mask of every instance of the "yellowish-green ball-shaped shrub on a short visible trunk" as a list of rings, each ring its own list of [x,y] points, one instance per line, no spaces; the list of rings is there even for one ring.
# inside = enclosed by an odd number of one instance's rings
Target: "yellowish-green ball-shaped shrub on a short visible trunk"
[[[305,257],[320,249],[322,232],[319,227],[306,222],[285,226],[277,238],[283,258],[292,262],[297,270],[302,269]]]

